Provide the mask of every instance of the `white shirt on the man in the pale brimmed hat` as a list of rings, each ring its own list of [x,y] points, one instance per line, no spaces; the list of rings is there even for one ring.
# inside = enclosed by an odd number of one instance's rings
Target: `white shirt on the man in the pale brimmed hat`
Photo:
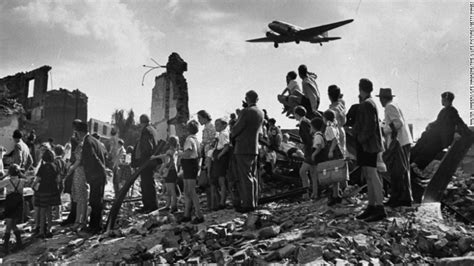
[[[397,140],[401,146],[413,143],[413,139],[408,129],[408,124],[405,122],[402,110],[393,102],[387,103],[385,106],[385,120],[383,125],[383,132],[387,138],[387,144],[390,145],[392,129],[390,123],[395,125],[397,130]]]

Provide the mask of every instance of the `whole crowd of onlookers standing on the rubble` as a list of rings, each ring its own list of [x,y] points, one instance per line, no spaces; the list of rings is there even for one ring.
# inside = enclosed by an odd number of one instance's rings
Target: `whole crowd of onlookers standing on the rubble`
[[[204,215],[196,188],[203,179],[208,184],[209,210],[226,208],[229,203],[238,212],[257,208],[257,169],[262,153],[266,154],[270,167],[275,166],[275,152],[301,157],[299,176],[303,187],[309,191],[303,195],[305,199],[322,196],[316,171],[318,164],[355,156],[368,191],[368,205],[357,219],[378,221],[386,217],[384,206],[412,204],[412,169],[416,174],[423,171],[458,133],[470,134],[452,106],[454,94],[451,92],[441,95],[444,108],[412,148],[408,124],[402,110],[393,101],[395,95],[391,89],[381,88],[377,95],[384,107],[384,115],[379,115],[372,97],[373,84],[368,79],[359,81],[359,103],[349,112],[346,113],[343,94],[336,85],[328,87],[330,105],[327,110],[320,111],[317,75],[309,72],[305,65],[298,68],[298,75],[301,86],[296,80],[296,72],[290,71],[286,77],[287,86],[277,99],[283,104],[283,112],[298,121],[301,146],[292,143],[288,133],[282,134],[275,119],[268,118],[266,111],[257,106],[259,96],[253,90],[245,94],[243,108],[230,119],[218,118],[213,123],[207,111],[199,111],[197,121],[187,123],[186,138],[169,136],[169,148],[163,154],[156,154],[158,134],[147,115],[140,116],[141,132],[135,147],[127,148],[114,131],[107,149],[98,136],[89,134],[87,123],[80,120],[72,122],[74,134],[65,147],[55,145],[50,139],[37,148],[34,132],[25,143],[22,132],[16,130],[13,133],[15,148],[6,155],[10,157],[8,176],[0,181],[0,187],[6,188],[7,195],[5,250],[9,250],[11,231],[16,236],[17,248],[21,247],[21,234],[16,225],[24,214],[23,189],[27,186],[34,190],[35,234],[41,238],[52,236],[52,217],[55,208],[61,206],[61,193],[69,193],[72,201],[69,216],[61,225],[73,225],[72,230],[91,234],[103,230],[107,168],[113,173],[113,188],[117,196],[133,169],[141,166],[143,207],[137,210],[138,213],[158,209],[155,176],[163,179],[167,196],[166,206],[161,210],[177,212],[178,194],[181,193],[178,184],[182,180],[184,215],[181,222],[198,224],[204,221]],[[203,126],[202,137],[197,136],[200,125]],[[349,152],[346,134],[355,139],[356,154]],[[0,148],[2,157],[5,152],[3,147]],[[377,171],[381,162],[391,177],[390,198],[385,203],[383,184]],[[3,175],[3,164],[0,167]],[[25,174],[28,171],[33,174]],[[342,202],[346,181],[330,185],[328,205]]]

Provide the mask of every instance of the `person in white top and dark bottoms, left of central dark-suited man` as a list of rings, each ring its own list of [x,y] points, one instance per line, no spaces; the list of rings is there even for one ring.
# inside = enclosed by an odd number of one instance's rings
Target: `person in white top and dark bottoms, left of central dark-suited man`
[[[227,199],[227,186],[225,177],[227,174],[227,168],[229,167],[230,137],[229,131],[227,130],[226,120],[219,118],[216,120],[215,124],[218,135],[217,145],[213,153],[212,172],[213,177],[217,178],[220,188],[218,208],[221,210],[225,208],[225,201]],[[217,188],[215,189],[215,192],[217,192]]]

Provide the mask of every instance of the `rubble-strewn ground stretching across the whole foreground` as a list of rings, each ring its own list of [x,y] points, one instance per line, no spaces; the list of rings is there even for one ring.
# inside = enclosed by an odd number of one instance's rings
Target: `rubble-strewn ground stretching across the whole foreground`
[[[470,176],[460,176],[454,182],[461,184],[460,196],[447,192],[454,202],[465,200],[464,193],[471,193],[466,190],[474,182]],[[472,265],[473,226],[449,213],[441,218],[436,204],[388,209],[389,217],[380,222],[358,221],[354,217],[366,198],[356,192],[351,187],[342,204],[333,207],[326,199],[293,199],[248,214],[232,209],[207,212],[199,225],[177,223],[182,213],[135,215],[135,203],[127,203],[116,230],[90,237],[55,226],[52,239],[28,240],[24,250],[4,257],[3,263],[420,264],[457,257],[451,260]],[[31,224],[22,228],[28,232]]]

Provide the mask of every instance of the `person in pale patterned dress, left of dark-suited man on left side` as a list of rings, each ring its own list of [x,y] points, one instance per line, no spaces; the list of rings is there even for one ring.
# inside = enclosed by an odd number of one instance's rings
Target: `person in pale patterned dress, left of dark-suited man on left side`
[[[74,149],[74,164],[69,167],[68,176],[72,175],[71,200],[76,204],[76,216],[73,231],[80,231],[86,227],[87,202],[89,200],[86,174],[82,166],[82,142]]]

